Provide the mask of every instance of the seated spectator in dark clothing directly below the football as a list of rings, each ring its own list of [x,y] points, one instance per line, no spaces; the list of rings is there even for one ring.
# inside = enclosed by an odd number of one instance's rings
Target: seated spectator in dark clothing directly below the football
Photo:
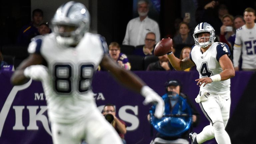
[[[163,55],[163,56],[159,56],[159,61],[157,62],[153,62],[151,64],[148,65],[147,67],[147,71],[167,71],[167,70],[172,70],[173,67],[170,64],[167,54]]]

